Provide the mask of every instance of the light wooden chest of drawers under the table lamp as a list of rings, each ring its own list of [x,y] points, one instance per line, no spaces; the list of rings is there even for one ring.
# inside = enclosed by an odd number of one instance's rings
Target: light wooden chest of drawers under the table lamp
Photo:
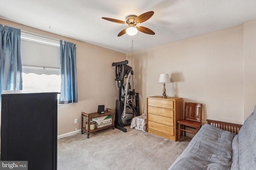
[[[147,132],[177,141],[182,117],[182,98],[147,98]]]

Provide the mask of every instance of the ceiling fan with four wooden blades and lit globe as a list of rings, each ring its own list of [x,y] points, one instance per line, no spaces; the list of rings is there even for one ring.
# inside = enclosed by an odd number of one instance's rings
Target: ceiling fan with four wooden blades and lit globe
[[[142,22],[148,20],[149,18],[151,18],[153,16],[153,14],[154,14],[154,11],[149,11],[149,12],[145,12],[144,14],[141,14],[139,16],[130,15],[130,16],[126,17],[126,22],[121,21],[121,20],[112,19],[112,18],[105,18],[105,17],[102,17],[102,19],[129,25],[128,28],[125,28],[122,31],[120,31],[120,33],[117,35],[118,37],[120,37],[121,35],[124,35],[125,33],[127,33],[128,35],[135,35],[138,31],[140,31],[142,33],[154,35],[155,34],[154,31],[152,31],[151,29],[149,29],[147,27],[142,27],[142,26],[137,27],[136,26],[138,23],[142,23]]]

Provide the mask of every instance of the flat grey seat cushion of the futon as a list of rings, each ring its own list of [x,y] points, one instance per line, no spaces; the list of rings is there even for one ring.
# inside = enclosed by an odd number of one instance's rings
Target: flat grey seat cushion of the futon
[[[231,132],[205,124],[169,170],[228,170],[232,163],[233,138]]]

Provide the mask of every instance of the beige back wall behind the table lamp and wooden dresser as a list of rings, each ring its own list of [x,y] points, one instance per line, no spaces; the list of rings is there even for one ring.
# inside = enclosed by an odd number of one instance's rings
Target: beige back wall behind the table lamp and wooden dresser
[[[143,113],[147,96],[162,96],[158,78],[168,73],[172,82],[166,84],[166,94],[202,103],[204,120],[244,122],[243,25],[140,51],[132,58]]]

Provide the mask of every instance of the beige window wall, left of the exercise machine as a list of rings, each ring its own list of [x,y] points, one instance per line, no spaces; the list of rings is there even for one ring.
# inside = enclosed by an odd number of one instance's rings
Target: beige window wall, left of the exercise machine
[[[11,21],[0,19],[0,24],[19,28],[31,33],[76,43],[76,69],[78,103],[58,106],[58,135],[81,129],[81,112],[95,112],[98,105],[115,109],[117,99],[113,62],[124,61],[126,55],[63,37]],[[74,119],[78,118],[78,124]]]

